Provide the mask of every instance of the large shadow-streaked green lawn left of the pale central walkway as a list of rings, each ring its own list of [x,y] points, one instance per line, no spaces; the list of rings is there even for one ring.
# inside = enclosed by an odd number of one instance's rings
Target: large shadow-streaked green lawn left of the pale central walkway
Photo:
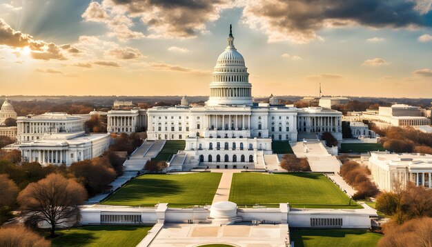
[[[211,204],[221,177],[222,173],[213,172],[142,175],[132,179],[101,204],[154,206],[165,202],[172,207]]]

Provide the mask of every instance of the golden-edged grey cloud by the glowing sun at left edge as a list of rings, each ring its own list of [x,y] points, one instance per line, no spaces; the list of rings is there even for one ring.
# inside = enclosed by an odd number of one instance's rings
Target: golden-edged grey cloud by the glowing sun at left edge
[[[42,60],[66,60],[61,47],[55,43],[46,43],[41,40],[35,40],[29,34],[12,29],[8,23],[0,19],[0,45],[9,46],[12,49],[28,48],[31,50],[31,55],[34,59]]]

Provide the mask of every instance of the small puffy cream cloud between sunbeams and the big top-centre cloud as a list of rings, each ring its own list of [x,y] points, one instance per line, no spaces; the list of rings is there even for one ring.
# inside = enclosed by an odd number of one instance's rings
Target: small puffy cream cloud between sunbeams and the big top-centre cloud
[[[128,39],[141,39],[144,34],[130,30],[133,26],[132,21],[123,14],[108,14],[108,10],[104,9],[99,3],[92,1],[86,11],[81,15],[85,21],[95,21],[106,23],[110,32],[108,36],[117,37],[122,41]]]

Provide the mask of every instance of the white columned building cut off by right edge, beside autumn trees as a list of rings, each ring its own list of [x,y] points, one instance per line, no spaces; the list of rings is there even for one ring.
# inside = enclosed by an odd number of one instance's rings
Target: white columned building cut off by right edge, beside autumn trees
[[[403,186],[411,181],[416,186],[432,188],[432,155],[371,152],[368,163],[380,190],[393,190],[395,181]]]

